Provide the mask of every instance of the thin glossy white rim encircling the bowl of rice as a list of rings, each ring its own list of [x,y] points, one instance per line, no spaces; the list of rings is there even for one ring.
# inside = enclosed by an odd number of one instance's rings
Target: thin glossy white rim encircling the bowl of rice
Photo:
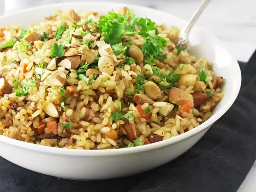
[[[177,18],[179,20],[186,21],[186,20],[178,18],[172,14],[165,13],[163,11],[159,11],[159,10],[148,8],[148,7],[137,6],[137,5],[132,5],[132,4],[123,4],[123,3],[117,3],[117,2],[89,2],[89,1],[88,2],[65,2],[65,3],[59,3],[59,4],[49,4],[49,5],[31,7],[31,8],[23,9],[21,11],[2,15],[0,17],[0,19],[8,18],[9,16],[14,15],[14,14],[20,14],[20,13],[33,11],[34,9],[41,9],[41,8],[47,8],[47,7],[56,7],[56,9],[58,7],[60,7],[60,9],[61,9],[61,6],[66,6],[66,5],[70,5],[70,4],[72,4],[72,5],[78,4],[79,6],[81,6],[81,4],[84,4],[84,5],[86,5],[86,4],[97,5],[98,4],[100,6],[113,5],[113,6],[119,6],[119,7],[127,6],[127,7],[132,7],[134,9],[144,9],[144,10],[147,9],[149,11],[152,10],[154,12],[158,12],[159,14],[167,14],[173,18]],[[225,48],[225,46],[223,46],[220,43],[220,41],[215,36],[213,36],[211,33],[206,32],[205,30],[201,29],[198,26],[194,26],[194,28],[207,34],[211,38],[211,41],[215,41],[216,43],[218,43],[219,45],[221,45],[222,47]],[[226,48],[225,48],[225,50],[226,50]],[[218,110],[216,110],[215,115],[212,116],[209,120],[200,124],[198,127],[194,128],[186,133],[183,133],[181,135],[175,136],[171,139],[167,139],[167,140],[156,142],[156,143],[151,143],[151,145],[142,145],[139,147],[120,148],[120,149],[104,149],[104,150],[77,150],[77,149],[47,147],[47,146],[35,145],[32,143],[15,140],[15,139],[3,136],[3,135],[0,135],[0,142],[4,142],[4,144],[12,145],[13,147],[20,147],[20,148],[29,149],[32,151],[51,153],[51,154],[56,154],[56,155],[59,154],[59,155],[69,155],[69,156],[113,156],[113,155],[124,155],[124,154],[133,154],[133,153],[151,151],[154,149],[158,149],[161,147],[171,145],[171,144],[181,141],[181,140],[188,139],[188,137],[191,137],[192,135],[196,135],[197,133],[201,132],[203,129],[211,126],[215,121],[217,121],[222,115],[224,115],[224,113],[226,113],[226,111],[231,107],[231,105],[235,102],[235,100],[237,98],[237,95],[238,95],[240,87],[241,87],[241,70],[239,68],[239,65],[238,65],[238,62],[236,61],[236,59],[230,54],[229,51],[227,51],[227,53],[231,56],[232,60],[234,60],[234,62],[232,61],[232,64],[234,64],[233,68],[237,72],[237,75],[238,75],[236,77],[236,81],[238,83],[237,87],[233,88],[233,89],[235,89],[234,94],[229,99],[228,103],[226,103],[222,108],[219,108]]]

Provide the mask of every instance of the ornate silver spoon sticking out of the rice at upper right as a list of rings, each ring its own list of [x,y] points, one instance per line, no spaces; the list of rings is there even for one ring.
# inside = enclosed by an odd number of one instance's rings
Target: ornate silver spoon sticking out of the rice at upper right
[[[180,31],[179,39],[177,45],[181,47],[183,50],[187,49],[188,46],[188,36],[189,33],[194,26],[194,24],[197,22],[200,15],[203,13],[205,7],[209,4],[211,0],[203,0],[201,5],[198,7],[198,9],[194,12],[192,18],[190,21],[188,21],[187,25],[183,28],[183,30]]]

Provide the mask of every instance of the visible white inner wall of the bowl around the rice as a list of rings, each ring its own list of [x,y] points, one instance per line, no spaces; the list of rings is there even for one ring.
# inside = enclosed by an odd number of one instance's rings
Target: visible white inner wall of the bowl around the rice
[[[177,18],[173,15],[169,15],[164,12],[160,12],[154,9],[126,5],[126,4],[117,4],[117,3],[106,3],[106,2],[72,2],[72,3],[64,3],[64,4],[55,4],[55,5],[47,5],[41,7],[35,7],[26,9],[24,11],[16,12],[13,14],[5,15],[0,17],[0,26],[5,25],[21,25],[22,27],[27,27],[31,24],[37,24],[44,17],[54,14],[57,9],[62,10],[63,12],[69,11],[70,9],[74,9],[75,11],[92,11],[92,12],[100,12],[102,14],[106,14],[107,11],[114,9],[114,11],[118,11],[118,9],[122,6],[127,6],[132,11],[134,11],[136,17],[148,17],[156,24],[164,23],[167,26],[177,26],[178,28],[182,28],[185,26],[186,22],[183,19]],[[226,83],[223,88],[223,92],[225,94],[223,100],[216,107],[213,116],[201,124],[199,127],[186,132],[182,135],[174,137],[169,140],[161,141],[158,143],[153,143],[151,145],[136,147],[133,151],[138,151],[138,148],[143,148],[145,150],[155,147],[160,147],[164,145],[169,145],[170,143],[179,141],[181,139],[185,139],[186,137],[196,134],[200,130],[210,126],[213,122],[215,122],[220,116],[222,116],[235,101],[240,85],[241,85],[241,71],[239,69],[239,65],[236,59],[230,55],[230,53],[222,46],[218,39],[213,37],[211,34],[204,32],[200,28],[194,26],[193,30],[190,34],[190,45],[191,45],[191,53],[195,55],[197,58],[204,57],[207,60],[213,62],[213,69],[218,76],[222,76],[226,78]],[[0,135],[0,140],[1,140]],[[6,140],[6,139],[5,139]],[[9,141],[9,140],[8,140]],[[10,141],[10,143],[13,142]],[[16,143],[16,141],[15,141]],[[20,145],[25,142],[18,142]],[[154,147],[155,146],[155,147]],[[38,147],[38,146],[37,146]],[[42,147],[42,146],[40,146]],[[49,149],[49,151],[56,149]],[[64,149],[65,151],[69,149]],[[129,148],[124,150],[130,150]],[[74,150],[71,150],[74,151]],[[77,151],[77,150],[75,150]],[[109,150],[103,150],[109,151]],[[100,153],[103,153],[100,152]],[[111,150],[116,151],[116,150]],[[119,149],[117,151],[123,151],[123,149]],[[91,152],[90,152],[91,153]],[[95,152],[94,152],[95,153]]]

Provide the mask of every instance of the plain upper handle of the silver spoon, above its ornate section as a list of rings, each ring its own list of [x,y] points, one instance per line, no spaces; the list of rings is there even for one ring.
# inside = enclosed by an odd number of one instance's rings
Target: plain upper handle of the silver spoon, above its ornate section
[[[184,32],[186,33],[187,36],[190,33],[190,31],[191,31],[192,27],[194,26],[194,24],[197,22],[197,20],[200,17],[200,15],[203,13],[205,7],[209,4],[210,1],[211,0],[203,0],[203,2],[201,2],[201,5],[194,12],[192,18],[190,19],[190,21],[187,23],[187,25],[184,28]]]

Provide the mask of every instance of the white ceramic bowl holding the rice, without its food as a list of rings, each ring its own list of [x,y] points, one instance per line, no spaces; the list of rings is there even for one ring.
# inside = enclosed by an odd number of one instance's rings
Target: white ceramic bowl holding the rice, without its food
[[[128,6],[137,17],[148,17],[158,24],[182,28],[186,21],[154,9],[106,2],[77,2],[47,5],[26,9],[0,17],[0,26],[27,26],[36,24],[42,18],[62,11],[94,11],[107,13]],[[236,59],[211,34],[194,27],[190,35],[192,53],[205,57],[214,63],[214,70],[225,77],[223,100],[216,107],[212,117],[200,126],[165,141],[133,148],[107,150],[75,150],[34,145],[0,135],[0,155],[21,167],[74,180],[95,180],[118,178],[140,173],[166,164],[190,149],[235,101],[240,85],[241,71]]]

